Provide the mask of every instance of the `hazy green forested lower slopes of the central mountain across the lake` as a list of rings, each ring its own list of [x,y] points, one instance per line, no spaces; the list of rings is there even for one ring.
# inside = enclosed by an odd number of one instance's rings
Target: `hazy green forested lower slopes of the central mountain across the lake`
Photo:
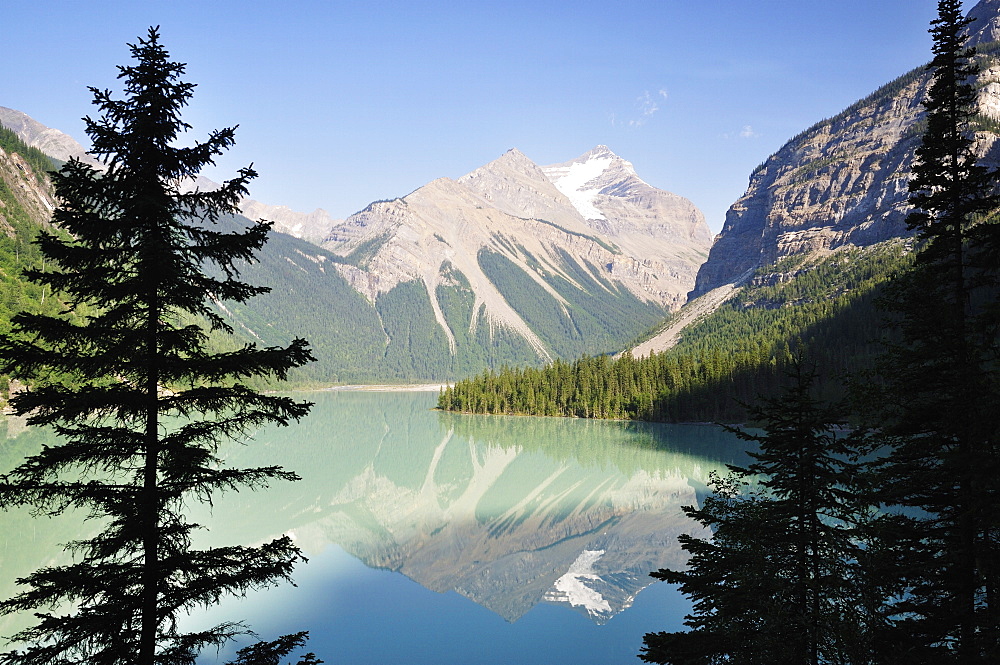
[[[222,223],[235,228],[248,220],[232,217]],[[442,266],[435,292],[453,339],[435,317],[424,282],[401,282],[375,302],[352,288],[335,265],[363,263],[363,249],[342,257],[272,233],[258,259],[243,267],[244,277],[271,292],[245,305],[225,305],[236,338],[218,343],[256,340],[282,345],[295,336],[305,337],[317,361],[292,372],[294,385],[445,381],[484,367],[540,364],[523,337],[496,325],[481,305],[477,307],[465,275],[449,263]],[[484,251],[478,260],[504,297],[518,303],[555,357],[615,352],[637,330],[651,328],[665,316],[662,307],[599,281],[568,256],[563,269],[585,289],[569,285],[559,275],[547,275],[561,302],[501,255]]]

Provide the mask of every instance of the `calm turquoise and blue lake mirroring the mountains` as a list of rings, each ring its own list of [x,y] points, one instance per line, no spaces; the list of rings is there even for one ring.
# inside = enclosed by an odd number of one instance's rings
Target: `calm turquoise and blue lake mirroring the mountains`
[[[233,465],[277,463],[302,480],[193,507],[210,527],[198,544],[287,533],[309,563],[297,586],[188,624],[308,630],[309,650],[351,664],[634,664],[646,632],[682,627],[687,601],[648,573],[683,565],[677,536],[703,532],[681,506],[700,502],[710,472],[745,462],[742,442],[711,426],[441,413],[436,397],[310,393],[299,425],[227,448]],[[43,436],[5,426],[4,469]],[[4,597],[79,528],[0,519]]]

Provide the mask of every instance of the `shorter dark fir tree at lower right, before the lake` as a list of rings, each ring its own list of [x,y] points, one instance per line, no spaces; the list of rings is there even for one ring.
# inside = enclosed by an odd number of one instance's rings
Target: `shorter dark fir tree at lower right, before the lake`
[[[796,361],[791,378],[782,395],[750,408],[763,433],[729,428],[757,444],[753,464],[730,467],[700,509],[684,509],[712,538],[682,536],[688,568],[653,576],[691,597],[691,630],[647,634],[644,660],[870,662],[858,531],[870,511],[858,498],[852,441],[813,397],[815,372]]]

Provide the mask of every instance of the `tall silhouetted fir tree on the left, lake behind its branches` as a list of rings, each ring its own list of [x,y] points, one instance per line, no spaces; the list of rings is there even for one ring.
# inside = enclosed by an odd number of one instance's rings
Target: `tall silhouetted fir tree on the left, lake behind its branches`
[[[230,622],[185,633],[181,615],[286,580],[302,559],[287,537],[192,548],[199,527],[186,518],[186,503],[296,479],[278,466],[226,468],[218,448],[302,418],[310,404],[259,394],[241,380],[282,379],[313,358],[301,339],[211,353],[208,331],[189,323],[226,330],[212,301],[267,291],[241,282],[237,266],[253,259],[269,225],[214,228],[246,194],[250,168],[216,191],[183,190],[232,145],[233,129],[176,147],[189,129],[180,111],[194,86],[180,79],[185,67],[169,60],[157,29],[130,48],[135,64],[119,68],[124,98],[92,88],[101,116],[85,119],[91,153],[106,168],[73,160],[54,174],[61,232],[37,241],[50,268],[29,277],[50,287],[66,312],[22,313],[0,339],[0,370],[31,385],[12,398],[15,411],[62,439],[0,478],[0,504],[40,515],[79,510],[103,528],[68,546],[71,563],[19,580],[26,590],[0,603],[2,613],[38,617],[13,636],[19,650],[0,655],[9,665],[193,663],[204,647],[247,629]],[[89,312],[79,323],[70,317],[77,309]],[[238,662],[269,662],[302,638],[262,643],[255,660]]]

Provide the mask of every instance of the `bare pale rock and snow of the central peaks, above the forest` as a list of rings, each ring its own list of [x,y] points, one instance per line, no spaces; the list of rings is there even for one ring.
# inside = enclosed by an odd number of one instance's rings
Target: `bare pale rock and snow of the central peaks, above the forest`
[[[423,283],[452,346],[455,331],[436,289],[451,283],[452,271],[460,274],[475,298],[470,332],[502,327],[548,360],[546,342],[487,274],[484,252],[513,264],[567,315],[554,282],[591,288],[580,270],[602,285],[596,295],[616,297],[620,288],[670,311],[683,304],[709,242],[689,201],[649,186],[630,163],[598,146],[547,167],[510,150],[457,180],[440,178],[373,203],[334,226],[322,246],[345,258],[337,269],[372,302],[400,283]]]

